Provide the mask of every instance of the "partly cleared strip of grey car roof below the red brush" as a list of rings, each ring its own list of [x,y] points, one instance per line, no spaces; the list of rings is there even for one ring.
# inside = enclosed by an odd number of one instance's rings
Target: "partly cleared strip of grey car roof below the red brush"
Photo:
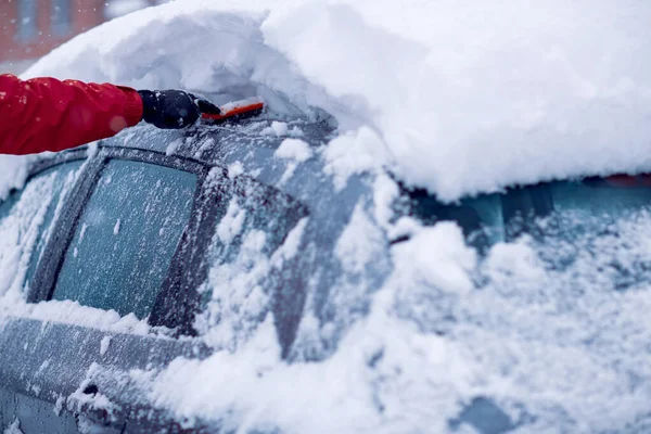
[[[146,124],[100,141],[100,146],[152,151],[221,167],[230,177],[245,175],[307,205],[346,218],[369,186],[348,174],[342,181],[321,158],[336,130],[328,122],[275,120],[265,116],[238,123],[201,123],[180,130]]]

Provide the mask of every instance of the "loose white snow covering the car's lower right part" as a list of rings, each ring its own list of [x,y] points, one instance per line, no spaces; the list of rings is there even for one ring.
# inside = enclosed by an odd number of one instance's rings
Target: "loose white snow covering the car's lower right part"
[[[566,217],[585,228],[585,217]],[[455,225],[411,226],[369,315],[327,360],[283,361],[267,317],[238,352],[179,358],[144,375],[150,396],[180,419],[217,418],[240,432],[646,432],[651,298],[648,283],[617,288],[610,265],[648,279],[636,260],[649,257],[649,243],[629,240],[649,233],[650,217],[624,218],[607,237],[497,244],[481,261]],[[363,219],[358,208],[339,242],[342,259],[353,258],[346,250],[368,255],[358,245],[372,241],[363,232],[373,225]],[[569,269],[550,267],[567,258]],[[303,321],[328,335],[327,326]],[[473,425],[461,414],[477,399],[493,404]],[[490,429],[497,419],[508,421],[502,431]]]

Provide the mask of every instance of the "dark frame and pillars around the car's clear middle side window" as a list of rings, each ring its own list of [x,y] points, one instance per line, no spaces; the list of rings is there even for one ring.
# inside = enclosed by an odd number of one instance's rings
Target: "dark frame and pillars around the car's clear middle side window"
[[[34,177],[49,167],[88,157],[88,162],[82,166],[84,171],[79,175],[68,196],[62,199],[64,203],[60,217],[53,222],[52,235],[47,241],[41,259],[36,267],[27,293],[27,302],[40,303],[52,299],[66,252],[71,248],[84,209],[107,163],[112,159],[149,163],[192,173],[196,175],[197,180],[190,220],[186,224],[179,244],[171,257],[148,322],[151,327],[174,329],[176,335],[196,335],[192,324],[194,316],[202,305],[202,295],[199,289],[205,283],[210,268],[205,258],[213,243],[220,214],[226,213],[234,194],[246,194],[241,191],[243,180],[231,180],[228,177],[228,170],[219,165],[209,165],[182,156],[166,155],[151,150],[102,146],[101,144],[98,146],[97,153],[91,156],[86,149],[60,153],[50,159],[37,163],[30,171],[30,177]],[[284,196],[292,209],[299,216],[304,217],[309,214],[305,205],[280,190],[245,176],[240,178],[246,178],[246,182],[257,184],[269,197]],[[75,200],[69,200],[69,197],[75,197]]]

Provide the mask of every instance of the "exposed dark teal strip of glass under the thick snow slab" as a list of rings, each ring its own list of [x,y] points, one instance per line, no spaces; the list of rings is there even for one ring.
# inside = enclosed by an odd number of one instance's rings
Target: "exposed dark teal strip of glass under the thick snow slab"
[[[485,251],[523,234],[548,240],[613,231],[615,224],[647,215],[650,176],[614,176],[512,188],[503,193],[443,204],[423,190],[409,193],[411,214],[425,225],[456,221],[469,244]]]

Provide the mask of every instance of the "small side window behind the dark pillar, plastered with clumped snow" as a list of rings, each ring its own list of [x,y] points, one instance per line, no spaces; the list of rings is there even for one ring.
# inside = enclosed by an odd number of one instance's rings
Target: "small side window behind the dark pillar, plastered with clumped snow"
[[[308,212],[298,201],[250,179],[235,180],[229,191],[233,194],[218,216],[207,252],[210,268],[200,288],[194,327],[232,343],[264,318],[266,294],[282,281],[273,270],[273,253]]]

